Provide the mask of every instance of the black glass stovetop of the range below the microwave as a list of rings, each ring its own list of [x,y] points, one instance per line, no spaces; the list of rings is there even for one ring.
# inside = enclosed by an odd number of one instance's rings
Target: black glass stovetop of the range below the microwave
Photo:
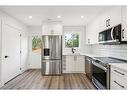
[[[96,62],[108,63],[127,63],[127,60],[117,59],[113,57],[94,57]]]

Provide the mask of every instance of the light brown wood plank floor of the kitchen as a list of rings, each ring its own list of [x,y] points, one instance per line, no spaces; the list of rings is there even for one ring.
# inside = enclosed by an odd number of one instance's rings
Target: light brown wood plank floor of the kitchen
[[[1,89],[95,89],[85,74],[42,76],[40,70],[28,70]]]

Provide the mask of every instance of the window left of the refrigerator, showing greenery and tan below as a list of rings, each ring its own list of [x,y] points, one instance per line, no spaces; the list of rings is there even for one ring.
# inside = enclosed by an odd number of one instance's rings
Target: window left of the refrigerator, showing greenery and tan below
[[[40,36],[32,36],[32,51],[41,53],[42,38]]]

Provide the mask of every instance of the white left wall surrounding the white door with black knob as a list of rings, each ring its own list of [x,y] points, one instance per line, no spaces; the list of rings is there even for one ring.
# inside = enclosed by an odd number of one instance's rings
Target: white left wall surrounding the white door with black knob
[[[2,23],[1,23],[2,22]],[[4,23],[3,23],[4,22]],[[13,18],[12,16],[0,11],[0,26],[2,25],[8,25],[10,27],[13,27],[15,29],[17,29],[18,31],[20,31],[20,34],[22,34],[23,36],[21,37],[21,50],[22,50],[22,54],[21,54],[21,67],[22,67],[22,71],[25,71],[27,69],[27,57],[28,57],[28,31],[27,31],[27,26],[25,24],[23,24],[22,22],[18,21],[17,19]],[[2,30],[2,28],[0,27],[0,32],[5,32]],[[0,33],[0,34],[1,34]],[[2,39],[0,37],[0,47],[2,46]],[[4,47],[2,47],[4,48]],[[2,79],[2,76],[3,73],[2,73],[2,64],[3,64],[3,61],[4,60],[4,55],[3,55],[3,51],[2,51],[2,48],[0,48],[1,52],[0,52],[0,57],[2,57],[0,59],[0,86],[2,86],[4,83],[2,83],[3,80]],[[9,68],[8,68],[9,69]]]

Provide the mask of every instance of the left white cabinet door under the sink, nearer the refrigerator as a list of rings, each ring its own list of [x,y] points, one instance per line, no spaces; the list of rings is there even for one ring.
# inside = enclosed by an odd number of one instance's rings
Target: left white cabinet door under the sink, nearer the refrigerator
[[[66,56],[66,72],[72,73],[75,71],[74,56]]]

